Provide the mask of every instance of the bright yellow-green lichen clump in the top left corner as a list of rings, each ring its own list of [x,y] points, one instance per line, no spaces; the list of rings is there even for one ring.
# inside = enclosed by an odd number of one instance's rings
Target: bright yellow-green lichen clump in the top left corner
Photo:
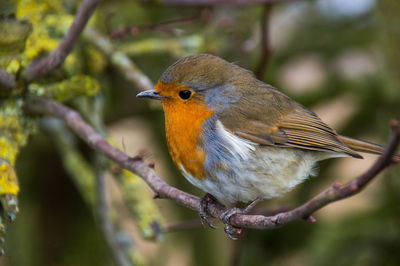
[[[16,17],[18,20],[11,25],[16,28],[15,30],[8,25],[12,22],[11,20],[0,23],[0,29],[2,29],[0,30],[0,48],[5,47],[0,49],[0,54],[3,56],[0,58],[0,66],[6,68],[11,74],[17,73],[21,67],[28,66],[33,59],[53,51],[73,21],[73,15],[66,12],[63,1],[59,0],[19,0]],[[7,24],[7,28],[2,24]],[[5,42],[4,45],[3,42]],[[26,47],[25,50],[24,47]],[[23,53],[13,56],[14,50],[22,50]],[[68,56],[68,58],[71,57],[76,57],[75,53]],[[67,72],[70,73],[70,70],[76,69],[77,61],[76,59],[66,61],[64,68]]]

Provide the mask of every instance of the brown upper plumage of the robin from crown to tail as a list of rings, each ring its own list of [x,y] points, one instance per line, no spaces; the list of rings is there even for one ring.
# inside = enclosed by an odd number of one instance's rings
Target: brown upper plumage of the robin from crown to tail
[[[220,90],[212,97],[240,98],[240,104],[228,102],[219,119],[229,131],[262,145],[337,152],[355,158],[362,158],[357,151],[382,152],[379,145],[339,136],[311,110],[257,80],[250,71],[216,56],[200,54],[178,60],[161,80],[186,84],[204,97]],[[221,88],[222,84],[231,87]],[[223,106],[226,99],[209,101]]]

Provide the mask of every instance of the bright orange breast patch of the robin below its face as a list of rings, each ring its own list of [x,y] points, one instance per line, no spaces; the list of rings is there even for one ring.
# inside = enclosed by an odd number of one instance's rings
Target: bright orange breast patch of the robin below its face
[[[163,85],[173,86],[173,85]],[[206,158],[200,147],[204,122],[214,112],[200,100],[166,99],[162,101],[168,149],[175,164],[197,179],[204,179]],[[179,169],[181,170],[181,169]]]

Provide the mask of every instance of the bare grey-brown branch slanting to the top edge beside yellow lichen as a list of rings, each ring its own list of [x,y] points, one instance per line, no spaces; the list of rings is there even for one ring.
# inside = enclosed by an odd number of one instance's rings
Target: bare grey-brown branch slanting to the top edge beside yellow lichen
[[[32,82],[59,65],[61,65],[67,55],[72,51],[75,43],[78,41],[83,29],[86,26],[89,18],[93,14],[96,6],[101,0],[84,0],[81,4],[78,13],[75,16],[74,22],[69,28],[67,34],[60,41],[57,48],[54,49],[46,57],[33,61],[27,67],[24,73],[24,80],[27,82]]]

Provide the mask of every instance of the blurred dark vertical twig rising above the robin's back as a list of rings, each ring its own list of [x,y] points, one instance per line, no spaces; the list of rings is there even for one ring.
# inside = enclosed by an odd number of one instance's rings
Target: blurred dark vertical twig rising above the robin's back
[[[267,68],[268,60],[271,54],[269,45],[269,24],[271,17],[272,4],[267,3],[264,7],[264,12],[261,18],[261,59],[256,70],[256,76],[259,80],[263,79],[265,70]]]

